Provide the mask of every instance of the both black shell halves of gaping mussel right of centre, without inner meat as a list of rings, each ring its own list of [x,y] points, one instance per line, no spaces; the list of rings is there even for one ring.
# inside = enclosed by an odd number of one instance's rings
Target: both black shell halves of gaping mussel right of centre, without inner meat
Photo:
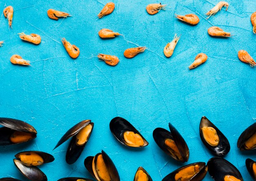
[[[169,155],[173,159],[181,162],[188,161],[189,148],[186,144],[186,141],[183,139],[180,133],[173,127],[173,125],[171,125],[171,123],[169,123],[169,128],[170,132],[164,128],[155,128],[155,130],[153,131],[153,138],[155,142],[157,143],[159,148],[161,148],[167,155]],[[171,155],[171,153],[168,151],[168,148],[164,143],[164,140],[167,138],[172,139],[175,142],[182,156],[181,159],[173,157],[173,155]]]

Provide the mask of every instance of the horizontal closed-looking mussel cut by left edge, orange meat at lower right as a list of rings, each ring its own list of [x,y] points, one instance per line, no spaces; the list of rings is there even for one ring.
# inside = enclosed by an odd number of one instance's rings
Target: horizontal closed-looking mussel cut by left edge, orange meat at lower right
[[[30,124],[12,118],[0,118],[0,146],[24,143],[36,138],[36,129]]]

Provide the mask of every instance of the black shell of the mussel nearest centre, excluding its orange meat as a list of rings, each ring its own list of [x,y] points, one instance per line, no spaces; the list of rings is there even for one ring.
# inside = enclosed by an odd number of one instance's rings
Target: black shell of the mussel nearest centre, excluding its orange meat
[[[139,147],[144,147],[148,145],[148,141],[139,133],[139,131],[135,127],[133,127],[132,124],[130,124],[126,119],[122,117],[113,118],[110,121],[109,127],[110,127],[110,131],[117,138],[117,140],[125,146],[134,148],[133,146],[129,146],[124,139],[124,132],[126,131],[132,131],[135,134],[138,134],[141,136],[141,138],[144,141],[144,145]],[[139,148],[139,147],[135,147],[135,148]]]

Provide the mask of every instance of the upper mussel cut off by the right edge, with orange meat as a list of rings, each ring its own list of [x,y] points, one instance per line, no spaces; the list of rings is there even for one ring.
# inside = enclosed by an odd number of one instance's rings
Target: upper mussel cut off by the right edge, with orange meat
[[[237,147],[241,151],[256,149],[256,123],[252,124],[242,132],[238,138]]]

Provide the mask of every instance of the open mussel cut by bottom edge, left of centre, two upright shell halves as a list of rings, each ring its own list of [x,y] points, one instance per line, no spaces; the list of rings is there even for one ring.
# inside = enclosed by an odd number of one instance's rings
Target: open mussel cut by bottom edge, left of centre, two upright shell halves
[[[87,157],[84,165],[97,181],[120,181],[117,168],[103,150],[101,150],[101,153],[95,155],[95,157]]]

